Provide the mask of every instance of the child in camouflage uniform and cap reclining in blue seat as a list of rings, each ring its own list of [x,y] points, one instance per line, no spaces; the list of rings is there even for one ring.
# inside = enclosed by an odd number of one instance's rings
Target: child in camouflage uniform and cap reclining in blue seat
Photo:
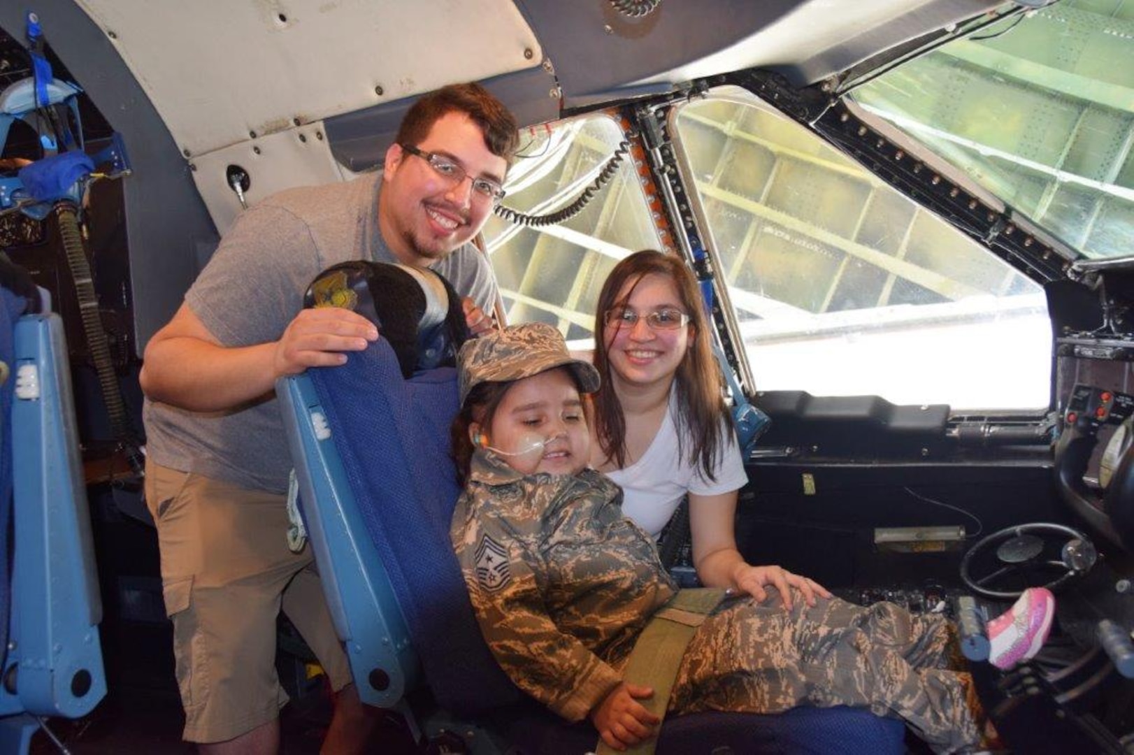
[[[637,702],[651,690],[621,672],[677,587],[653,540],[623,517],[618,486],[586,468],[579,395],[598,373],[545,324],[468,341],[459,370],[452,435],[466,487],[451,536],[485,641],[517,686],[565,719],[590,716],[608,745],[653,736],[658,719]],[[785,610],[770,588],[704,620],[668,711],[866,706],[937,752],[971,749],[971,680],[947,670],[949,637],[939,616],[798,595]]]

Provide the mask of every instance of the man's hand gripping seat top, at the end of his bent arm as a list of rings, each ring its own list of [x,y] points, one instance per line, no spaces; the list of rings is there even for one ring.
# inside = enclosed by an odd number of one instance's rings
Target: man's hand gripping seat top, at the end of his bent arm
[[[301,309],[276,342],[276,374],[345,364],[342,351],[362,351],[376,340],[378,328],[357,312],[341,307]]]

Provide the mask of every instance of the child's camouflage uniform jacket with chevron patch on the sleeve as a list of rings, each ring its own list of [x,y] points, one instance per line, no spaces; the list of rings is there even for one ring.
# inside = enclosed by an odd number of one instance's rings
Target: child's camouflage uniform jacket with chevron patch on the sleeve
[[[452,544],[497,662],[570,721],[621,681],[638,634],[676,592],[653,538],[623,517],[621,498],[593,469],[524,476],[477,450],[452,515]]]

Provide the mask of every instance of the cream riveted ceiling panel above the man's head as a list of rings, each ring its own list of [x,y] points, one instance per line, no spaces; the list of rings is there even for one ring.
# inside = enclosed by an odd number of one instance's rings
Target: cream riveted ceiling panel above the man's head
[[[500,0],[78,5],[194,156],[543,58],[515,5]],[[424,52],[423,40],[445,54]]]

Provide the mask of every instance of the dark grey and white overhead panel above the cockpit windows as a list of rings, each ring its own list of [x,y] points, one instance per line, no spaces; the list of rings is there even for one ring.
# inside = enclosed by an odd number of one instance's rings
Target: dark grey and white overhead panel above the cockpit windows
[[[999,0],[699,0],[629,17],[612,2],[517,0],[555,65],[566,108],[623,87],[668,85],[751,67],[811,84]]]

